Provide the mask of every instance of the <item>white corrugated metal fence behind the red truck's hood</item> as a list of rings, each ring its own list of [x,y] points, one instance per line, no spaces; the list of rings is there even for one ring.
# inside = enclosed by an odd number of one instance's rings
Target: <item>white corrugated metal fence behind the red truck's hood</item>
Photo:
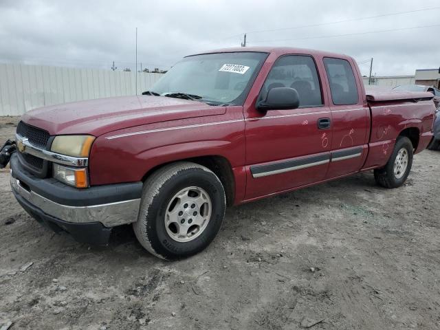
[[[161,77],[138,72],[137,94]],[[134,72],[0,64],[0,115],[23,115],[45,105],[135,94]]]

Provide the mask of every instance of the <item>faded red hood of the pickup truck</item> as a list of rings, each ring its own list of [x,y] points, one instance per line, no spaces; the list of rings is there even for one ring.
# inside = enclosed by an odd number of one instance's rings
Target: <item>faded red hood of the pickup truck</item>
[[[95,136],[132,126],[225,113],[224,107],[164,96],[123,96],[58,104],[28,111],[21,120],[50,135]]]

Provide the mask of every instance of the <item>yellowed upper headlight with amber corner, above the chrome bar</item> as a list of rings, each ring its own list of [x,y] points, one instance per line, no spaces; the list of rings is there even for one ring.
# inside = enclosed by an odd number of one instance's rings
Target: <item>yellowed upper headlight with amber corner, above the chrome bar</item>
[[[95,137],[91,135],[58,135],[52,142],[50,151],[74,157],[89,157],[91,144]]]

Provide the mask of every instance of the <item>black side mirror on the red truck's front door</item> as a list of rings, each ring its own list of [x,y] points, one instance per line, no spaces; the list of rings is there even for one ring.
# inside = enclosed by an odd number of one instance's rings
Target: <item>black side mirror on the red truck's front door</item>
[[[265,100],[256,103],[256,109],[268,110],[289,110],[300,106],[298,91],[289,87],[274,87],[267,92]]]

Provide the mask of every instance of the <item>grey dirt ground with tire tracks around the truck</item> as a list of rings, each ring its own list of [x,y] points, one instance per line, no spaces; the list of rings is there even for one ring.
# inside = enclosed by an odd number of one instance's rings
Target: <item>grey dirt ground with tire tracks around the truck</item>
[[[16,123],[1,119],[1,142]],[[416,155],[394,190],[361,173],[230,208],[208,249],[178,262],[130,226],[107,248],[54,234],[10,190],[1,170],[10,329],[440,329],[440,152]]]

